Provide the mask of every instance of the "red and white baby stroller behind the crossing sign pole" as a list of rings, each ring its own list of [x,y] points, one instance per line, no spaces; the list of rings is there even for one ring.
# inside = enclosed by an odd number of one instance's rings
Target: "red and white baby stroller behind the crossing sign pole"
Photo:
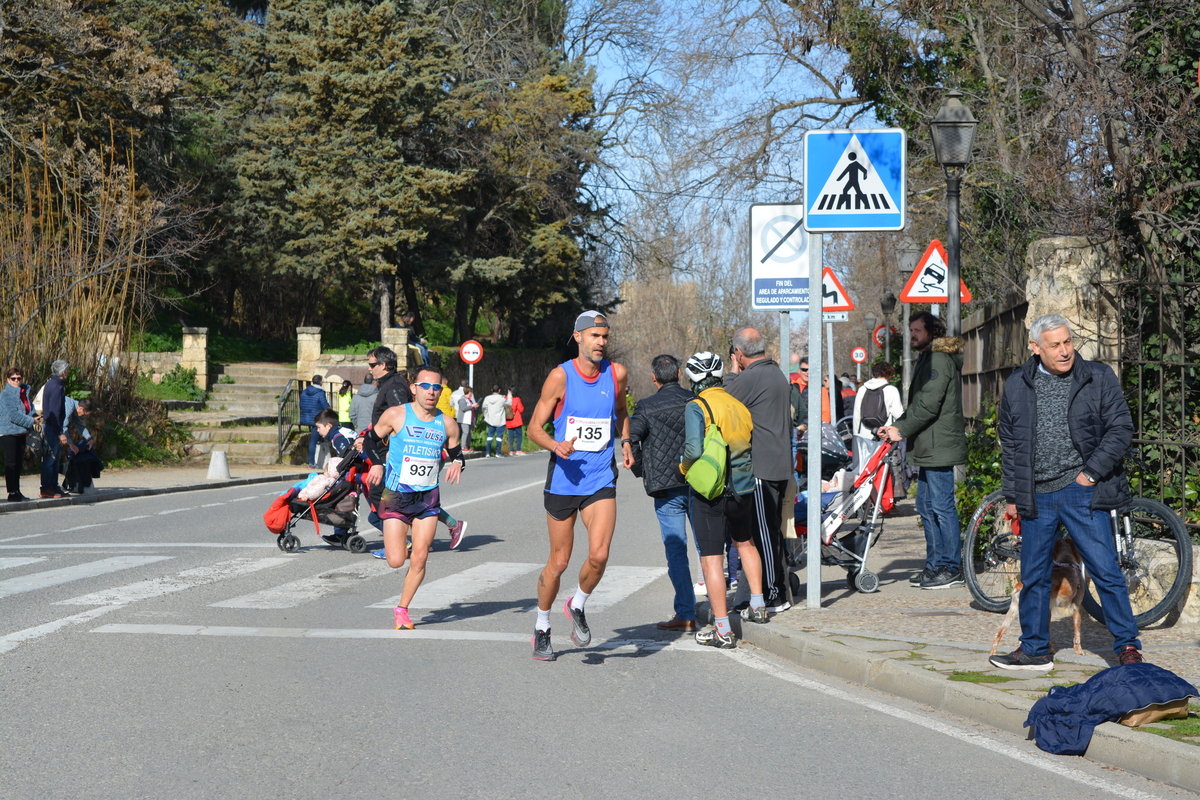
[[[829,426],[826,426],[829,427]],[[895,500],[892,493],[892,474],[899,453],[894,445],[884,441],[866,461],[853,480],[845,469],[851,464],[850,452],[841,438],[829,428],[821,440],[821,563],[846,570],[846,584],[863,593],[877,591],[878,577],[866,569],[871,547],[883,533],[883,515],[892,511]],[[800,440],[800,452],[806,452],[806,443]],[[828,491],[826,491],[828,489]],[[796,533],[808,534],[808,497],[796,498]],[[842,531],[840,539],[835,535]],[[792,593],[799,594],[799,577],[791,575]]]

